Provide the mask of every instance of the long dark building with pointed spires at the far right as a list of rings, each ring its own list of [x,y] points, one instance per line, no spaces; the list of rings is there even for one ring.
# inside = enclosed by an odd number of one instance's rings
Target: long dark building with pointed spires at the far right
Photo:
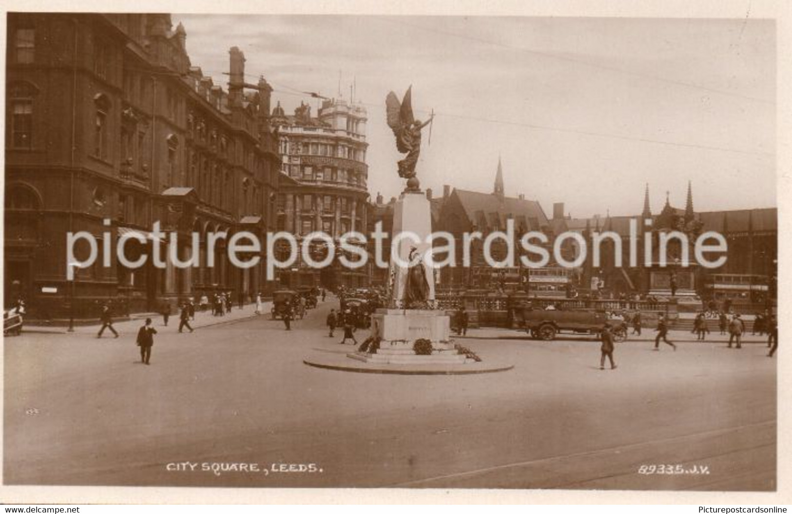
[[[725,300],[730,297],[742,304],[762,303],[775,297],[774,282],[778,255],[778,210],[775,208],[718,210],[695,212],[691,184],[687,186],[687,202],[684,209],[671,205],[666,197],[659,214],[652,214],[649,206],[649,186],[644,195],[642,213],[635,216],[606,216],[591,218],[569,218],[560,212],[554,213],[551,225],[558,233],[565,230],[581,232],[588,241],[588,259],[584,263],[581,288],[589,289],[594,282],[604,287],[608,294],[627,295],[654,294],[668,296],[675,283],[678,296],[699,295],[704,299]],[[630,221],[637,225],[638,266],[629,266]],[[651,221],[650,225],[647,222]],[[673,241],[668,250],[668,266],[661,266],[658,255],[659,234],[680,231],[688,236],[691,244],[703,232],[718,232],[728,244],[726,260],[722,266],[707,269],[695,264],[693,249],[689,248],[691,266],[680,266],[676,259],[682,257],[680,245]],[[592,232],[613,231],[623,240],[623,266],[614,265],[615,247],[610,242],[602,245],[602,263],[592,266]],[[643,243],[645,236],[653,240],[653,255],[645,264]],[[714,255],[710,258],[714,259]]]

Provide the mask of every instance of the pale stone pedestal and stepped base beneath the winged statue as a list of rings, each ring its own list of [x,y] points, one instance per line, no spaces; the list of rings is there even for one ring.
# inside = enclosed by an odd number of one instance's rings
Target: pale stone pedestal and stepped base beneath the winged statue
[[[410,232],[413,237],[398,236],[402,232]],[[410,251],[417,250],[425,255],[432,245],[427,243],[432,232],[432,214],[429,201],[420,191],[406,191],[394,207],[395,255],[390,266],[390,308],[381,308],[371,316],[370,337],[379,339],[376,353],[349,353],[348,357],[359,361],[379,364],[464,364],[473,361],[459,353],[450,339],[451,319],[445,312],[431,309],[405,309]],[[424,261],[424,273],[428,283],[427,304],[435,303],[434,270],[430,263]],[[417,339],[428,339],[432,342],[431,355],[417,355],[413,345]]]

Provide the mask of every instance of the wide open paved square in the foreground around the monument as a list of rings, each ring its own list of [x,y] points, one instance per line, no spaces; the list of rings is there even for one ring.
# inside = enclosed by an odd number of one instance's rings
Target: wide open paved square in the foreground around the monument
[[[728,350],[672,332],[679,350],[655,352],[645,331],[600,371],[599,342],[482,329],[460,342],[515,368],[369,375],[303,364],[352,350],[323,327],[331,306],[292,331],[269,316],[194,334],[156,320],[149,366],[137,324],[6,338],[6,483],[776,487],[776,361],[758,337]]]

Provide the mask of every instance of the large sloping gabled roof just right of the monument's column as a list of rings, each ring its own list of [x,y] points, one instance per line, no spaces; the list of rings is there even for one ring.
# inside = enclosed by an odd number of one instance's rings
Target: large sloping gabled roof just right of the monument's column
[[[505,229],[509,217],[516,220],[516,225],[519,225],[518,220],[523,217],[531,225],[527,227],[531,230],[539,230],[548,225],[542,206],[535,200],[501,197],[462,189],[455,189],[451,194],[459,198],[459,203],[468,219],[479,228],[493,228],[493,221],[497,220],[501,225],[500,228]]]

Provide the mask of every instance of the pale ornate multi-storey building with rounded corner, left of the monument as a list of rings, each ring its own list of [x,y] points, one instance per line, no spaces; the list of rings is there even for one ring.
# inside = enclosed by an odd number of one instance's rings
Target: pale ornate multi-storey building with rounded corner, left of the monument
[[[323,100],[316,116],[307,104],[301,103],[294,115],[287,115],[280,102],[276,105],[270,122],[282,159],[278,230],[295,234],[298,242],[310,232],[325,232],[335,244],[347,232],[368,236],[366,121],[366,109],[346,100]],[[314,259],[321,260],[324,251],[322,244],[314,245]],[[368,284],[371,264],[353,270],[336,263],[318,270],[300,256],[277,274],[287,287],[357,287]]]

